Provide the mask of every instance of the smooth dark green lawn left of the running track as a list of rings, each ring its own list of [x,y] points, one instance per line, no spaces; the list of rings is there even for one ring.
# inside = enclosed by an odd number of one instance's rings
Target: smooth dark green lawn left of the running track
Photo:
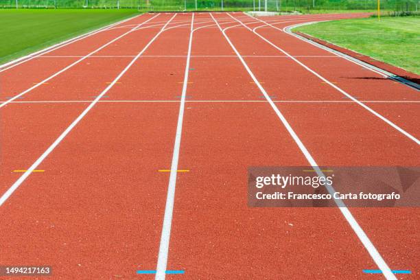
[[[136,13],[137,10],[0,10],[0,64]]]

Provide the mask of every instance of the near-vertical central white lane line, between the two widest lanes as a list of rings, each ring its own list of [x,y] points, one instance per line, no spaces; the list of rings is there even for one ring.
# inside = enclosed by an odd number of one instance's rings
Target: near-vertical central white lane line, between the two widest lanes
[[[194,34],[194,13],[191,18],[191,31],[189,34],[189,43],[188,43],[188,54],[187,62],[185,63],[185,74],[184,74],[184,84],[183,92],[180,99],[179,113],[178,113],[178,124],[176,125],[176,135],[174,143],[174,154],[172,155],[172,164],[170,172],[170,180],[167,186],[167,198],[165,205],[165,215],[163,216],[163,226],[161,234],[161,244],[159,246],[159,256],[156,265],[156,280],[165,279],[165,271],[167,267],[167,254],[169,251],[170,237],[171,237],[171,226],[172,226],[172,215],[174,212],[174,198],[175,198],[175,185],[176,185],[176,176],[178,170],[178,159],[179,159],[179,150],[180,150],[180,141],[183,131],[183,118],[184,118],[184,108],[185,108],[185,96],[187,95],[187,85],[188,85],[188,73],[189,73],[189,60],[191,56],[191,46],[192,38]]]

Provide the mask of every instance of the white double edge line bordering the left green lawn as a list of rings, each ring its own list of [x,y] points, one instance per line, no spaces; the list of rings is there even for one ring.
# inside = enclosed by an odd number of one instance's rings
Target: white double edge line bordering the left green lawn
[[[6,71],[8,69],[11,69],[13,67],[16,67],[17,65],[21,65],[24,62],[27,62],[27,61],[32,60],[34,58],[40,57],[43,54],[49,54],[51,51],[55,51],[56,49],[60,49],[61,47],[65,47],[67,45],[70,45],[72,43],[75,43],[75,42],[77,42],[79,40],[82,40],[84,38],[87,38],[89,36],[95,35],[95,34],[100,33],[100,32],[104,32],[106,30],[111,30],[112,27],[114,27],[115,25],[119,25],[119,24],[124,23],[126,21],[130,21],[131,19],[135,19],[135,18],[137,18],[139,16],[142,16],[142,15],[143,14],[140,14],[140,15],[137,15],[137,16],[132,16],[132,17],[130,17],[128,19],[124,19],[122,21],[118,21],[117,23],[113,23],[113,24],[110,24],[110,25],[101,27],[101,28],[99,28],[97,30],[92,30],[91,32],[88,32],[88,33],[85,33],[85,34],[81,34],[79,36],[75,36],[73,38],[70,38],[69,40],[65,40],[65,41],[60,42],[60,43],[58,43],[56,45],[52,45],[50,47],[46,47],[45,49],[40,49],[39,51],[35,51],[32,54],[28,54],[27,56],[23,56],[21,58],[17,58],[15,60],[6,62],[3,65],[0,65],[0,73],[3,72],[3,71]],[[7,68],[5,68],[5,67],[7,67]]]

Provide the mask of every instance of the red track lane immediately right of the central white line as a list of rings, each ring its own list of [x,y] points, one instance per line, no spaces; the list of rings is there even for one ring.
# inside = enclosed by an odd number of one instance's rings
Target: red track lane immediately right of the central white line
[[[221,33],[213,44],[220,52],[229,49]],[[194,51],[208,54],[198,40]],[[191,65],[196,60],[200,58],[191,58]],[[222,73],[232,76],[229,71]],[[188,85],[187,95],[208,73],[203,69],[194,75],[196,82]],[[232,83],[232,91],[240,86]],[[213,91],[218,88],[207,90],[207,96]],[[188,279],[272,279],[273,275],[354,279],[362,277],[359,267],[373,265],[338,209],[250,209],[246,205],[248,166],[307,165],[266,102],[190,102],[187,106],[179,166],[194,176],[177,180],[170,267],[185,269]],[[308,236],[310,246],[302,246]],[[347,250],[349,244],[354,250]],[[309,262],[322,273],[308,268]]]

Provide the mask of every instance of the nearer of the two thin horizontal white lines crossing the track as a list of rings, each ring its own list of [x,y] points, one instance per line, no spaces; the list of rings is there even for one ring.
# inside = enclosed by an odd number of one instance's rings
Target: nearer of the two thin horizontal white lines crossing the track
[[[143,57],[143,56],[141,56]],[[92,100],[44,100],[44,101],[14,101],[12,104],[44,104],[44,103],[89,103]],[[102,103],[118,103],[118,102],[180,102],[180,100],[100,100]],[[185,100],[185,102],[267,102],[266,100]],[[351,100],[273,100],[275,103],[349,103],[353,104]],[[420,103],[418,100],[360,100],[363,103],[395,103],[395,104],[411,104]]]

